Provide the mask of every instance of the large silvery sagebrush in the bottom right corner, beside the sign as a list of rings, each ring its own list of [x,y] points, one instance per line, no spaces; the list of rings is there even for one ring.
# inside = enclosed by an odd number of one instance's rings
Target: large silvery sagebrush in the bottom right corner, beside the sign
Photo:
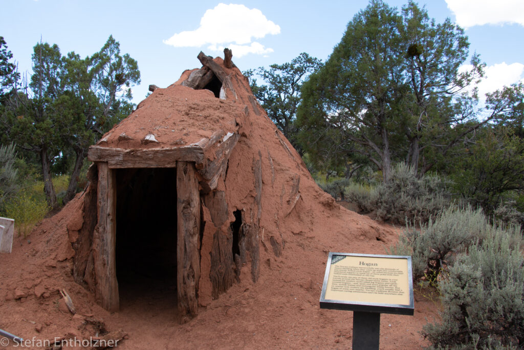
[[[520,227],[490,226],[440,282],[442,322],[422,334],[432,348],[524,347],[524,259]]]

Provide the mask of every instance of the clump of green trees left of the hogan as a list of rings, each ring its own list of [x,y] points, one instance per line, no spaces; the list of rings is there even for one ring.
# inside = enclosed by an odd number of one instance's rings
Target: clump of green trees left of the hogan
[[[38,154],[49,205],[57,206],[51,182],[54,171],[70,173],[63,198],[77,190],[88,148],[133,109],[130,87],[140,82],[137,62],[121,55],[110,36],[99,52],[81,58],[62,56],[57,45],[39,43],[32,55],[32,94],[18,93],[16,103],[3,115],[4,138]]]

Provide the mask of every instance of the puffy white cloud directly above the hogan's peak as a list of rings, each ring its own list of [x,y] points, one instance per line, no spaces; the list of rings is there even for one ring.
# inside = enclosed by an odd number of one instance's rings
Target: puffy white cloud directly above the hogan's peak
[[[244,5],[219,4],[208,9],[200,19],[200,27],[191,31],[174,34],[164,44],[174,47],[200,47],[210,45],[211,50],[219,51],[228,47],[233,55],[267,54],[273,50],[265,48],[252,39],[260,39],[268,34],[279,34],[280,26],[271,22],[256,8]]]

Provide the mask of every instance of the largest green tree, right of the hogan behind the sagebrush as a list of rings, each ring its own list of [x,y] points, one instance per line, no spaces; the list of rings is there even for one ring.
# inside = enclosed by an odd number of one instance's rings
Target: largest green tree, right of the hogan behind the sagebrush
[[[468,46],[460,27],[449,19],[435,24],[413,2],[399,14],[371,1],[303,84],[297,115],[305,150],[328,158],[361,154],[385,181],[394,161],[418,169],[423,159],[429,171],[432,153],[445,154],[458,142],[457,123],[472,116],[473,100],[463,92],[482,65],[474,56],[472,70],[459,71]]]

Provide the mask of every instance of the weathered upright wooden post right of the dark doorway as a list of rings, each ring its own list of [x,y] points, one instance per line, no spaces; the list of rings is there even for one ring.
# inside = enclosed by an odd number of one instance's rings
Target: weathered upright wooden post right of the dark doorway
[[[198,311],[200,280],[200,195],[195,168],[177,162],[177,291],[182,322]]]

